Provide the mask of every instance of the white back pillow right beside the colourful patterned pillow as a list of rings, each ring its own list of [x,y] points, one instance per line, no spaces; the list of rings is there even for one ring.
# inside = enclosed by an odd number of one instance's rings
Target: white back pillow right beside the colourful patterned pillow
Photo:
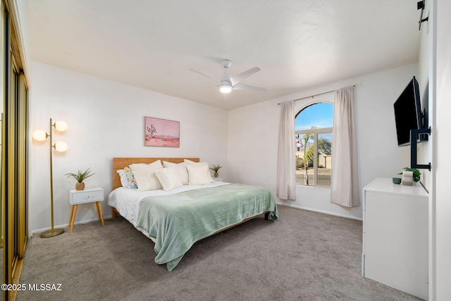
[[[155,176],[155,171],[163,168],[161,161],[155,161],[151,164],[130,164],[133,176],[135,176],[136,184],[139,191],[156,190],[163,188],[160,181]]]

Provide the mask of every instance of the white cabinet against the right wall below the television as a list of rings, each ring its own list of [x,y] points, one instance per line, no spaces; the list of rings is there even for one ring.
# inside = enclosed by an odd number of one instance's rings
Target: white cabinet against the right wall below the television
[[[363,216],[362,275],[427,300],[426,190],[376,178],[364,188]]]

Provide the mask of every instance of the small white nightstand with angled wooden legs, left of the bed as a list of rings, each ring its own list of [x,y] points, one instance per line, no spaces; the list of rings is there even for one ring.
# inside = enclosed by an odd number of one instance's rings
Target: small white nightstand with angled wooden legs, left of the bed
[[[101,211],[101,201],[104,200],[104,188],[94,187],[86,188],[85,190],[69,190],[69,203],[72,205],[72,211],[70,212],[69,228],[70,233],[73,231],[73,224],[75,223],[75,215],[77,215],[78,204],[96,203],[97,215],[99,221],[105,226],[104,214]]]

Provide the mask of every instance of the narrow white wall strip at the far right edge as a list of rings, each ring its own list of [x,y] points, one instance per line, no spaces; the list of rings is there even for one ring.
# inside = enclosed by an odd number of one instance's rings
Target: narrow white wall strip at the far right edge
[[[435,291],[433,300],[451,300],[451,2],[449,0],[432,1],[433,11],[433,99],[434,121],[433,137],[433,221],[431,233],[433,252],[433,275]]]

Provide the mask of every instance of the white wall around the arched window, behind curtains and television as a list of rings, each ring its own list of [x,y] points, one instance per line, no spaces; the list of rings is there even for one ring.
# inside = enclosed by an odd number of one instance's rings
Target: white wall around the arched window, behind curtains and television
[[[408,166],[409,147],[397,147],[393,103],[407,86],[417,65],[372,73],[334,82],[315,90],[280,97],[228,112],[228,176],[232,182],[257,184],[276,195],[278,103],[356,85],[354,101],[359,154],[360,191],[376,177],[392,178]],[[327,100],[330,94],[315,97]],[[311,102],[299,100],[295,106]],[[330,203],[330,189],[297,186],[295,202],[279,201],[292,207],[362,219],[362,207],[347,209]]]

